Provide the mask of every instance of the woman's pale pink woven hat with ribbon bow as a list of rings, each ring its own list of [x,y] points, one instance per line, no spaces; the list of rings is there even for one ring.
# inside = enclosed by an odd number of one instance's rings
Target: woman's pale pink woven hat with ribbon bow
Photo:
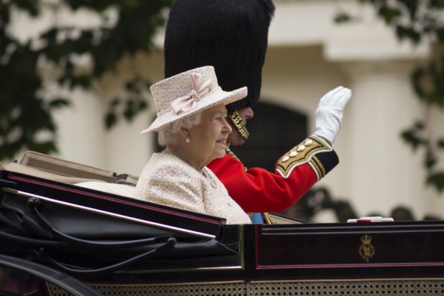
[[[230,104],[247,97],[247,87],[225,92],[219,87],[212,66],[195,68],[161,80],[149,88],[157,117],[142,134],[178,121],[218,104]]]

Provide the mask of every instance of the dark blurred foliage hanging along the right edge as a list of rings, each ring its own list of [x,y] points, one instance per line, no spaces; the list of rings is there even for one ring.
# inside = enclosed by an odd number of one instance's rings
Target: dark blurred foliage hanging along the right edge
[[[370,4],[386,25],[393,28],[400,41],[431,42],[435,53],[426,63],[419,63],[411,75],[412,87],[426,109],[444,109],[444,0],[358,0]],[[341,11],[336,23],[355,20],[349,13]],[[443,110],[444,111],[444,110]],[[438,152],[444,150],[444,137],[433,139],[433,127],[428,117],[412,123],[401,133],[414,151],[424,151],[424,168],[427,171],[426,184],[444,190],[444,171],[438,165]],[[441,132],[440,127],[438,132]]]

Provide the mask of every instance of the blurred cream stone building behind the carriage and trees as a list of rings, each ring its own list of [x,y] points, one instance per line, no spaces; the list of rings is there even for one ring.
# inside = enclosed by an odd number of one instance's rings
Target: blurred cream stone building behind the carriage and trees
[[[261,100],[306,114],[313,130],[314,111],[323,94],[338,85],[353,91],[334,145],[340,164],[316,186],[327,186],[334,197],[350,200],[360,216],[371,212],[387,216],[400,204],[412,208],[417,218],[441,216],[444,196],[426,187],[423,156],[413,153],[400,138],[401,130],[425,116],[409,74],[416,61],[430,54],[429,45],[414,48],[397,42],[373,8],[356,0],[275,0],[275,4]],[[333,23],[340,8],[361,21]],[[25,19],[18,20],[18,32],[36,30]],[[153,82],[164,78],[162,42],[159,32],[156,52],[122,61],[120,74],[107,76],[99,94],[70,94],[75,98],[73,108],[56,114],[59,156],[117,173],[142,171],[155,139],[140,131],[152,121],[154,110],[111,132],[104,130],[103,115],[107,100],[121,91],[129,68],[137,68]],[[429,116],[434,127],[443,126],[442,113]]]

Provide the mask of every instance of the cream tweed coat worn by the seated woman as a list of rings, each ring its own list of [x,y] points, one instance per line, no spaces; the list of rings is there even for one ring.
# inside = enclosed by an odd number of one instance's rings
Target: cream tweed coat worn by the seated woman
[[[226,218],[227,224],[251,223],[209,168],[199,172],[172,154],[152,155],[137,182],[135,197]]]

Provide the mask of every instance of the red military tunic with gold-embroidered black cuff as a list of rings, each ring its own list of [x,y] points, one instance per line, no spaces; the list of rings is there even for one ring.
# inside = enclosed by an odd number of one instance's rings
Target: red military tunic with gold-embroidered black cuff
[[[281,212],[297,202],[339,163],[338,155],[319,137],[310,136],[276,162],[276,171],[249,168],[226,154],[208,164],[246,212]]]

